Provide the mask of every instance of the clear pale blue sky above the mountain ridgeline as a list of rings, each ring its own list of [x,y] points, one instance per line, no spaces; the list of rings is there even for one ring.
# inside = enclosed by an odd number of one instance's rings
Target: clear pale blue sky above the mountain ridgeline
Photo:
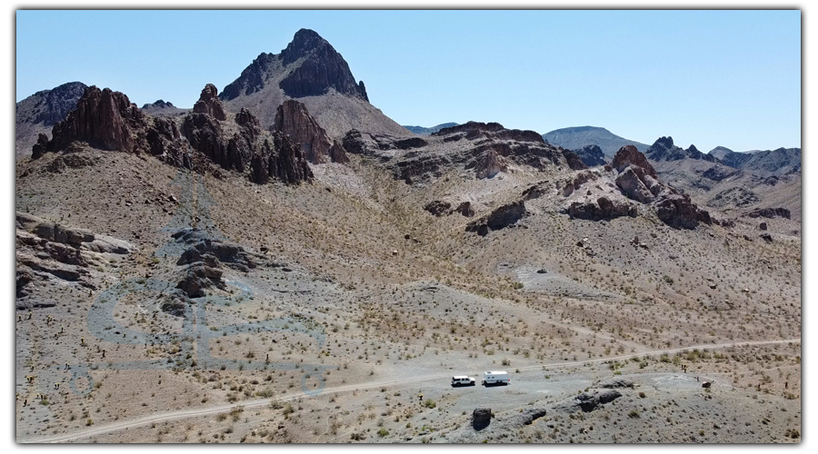
[[[311,28],[401,124],[603,126],[801,146],[801,11],[17,11],[16,100],[80,81],[195,103]]]

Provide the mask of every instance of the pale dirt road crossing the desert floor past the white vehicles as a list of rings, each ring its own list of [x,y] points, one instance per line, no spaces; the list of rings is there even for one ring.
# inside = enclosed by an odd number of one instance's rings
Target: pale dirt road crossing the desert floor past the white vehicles
[[[742,346],[751,346],[751,345],[770,345],[770,344],[780,344],[780,343],[801,343],[801,339],[785,339],[785,340],[778,340],[778,341],[743,341],[743,342],[729,342],[729,343],[719,343],[719,344],[703,344],[703,345],[692,345],[689,347],[681,347],[677,349],[666,349],[666,350],[652,350],[652,351],[643,351],[640,353],[632,353],[627,355],[619,355],[619,356],[610,356],[605,358],[597,358],[593,360],[581,360],[581,361],[565,361],[565,362],[556,362],[556,363],[548,363],[548,364],[538,364],[536,366],[527,366],[523,368],[519,368],[520,370],[541,370],[541,369],[555,369],[555,368],[564,368],[564,367],[571,367],[571,366],[582,366],[591,363],[597,362],[605,362],[610,360],[630,360],[634,357],[644,356],[644,355],[661,355],[661,354],[672,354],[681,352],[683,350],[693,350],[693,349],[710,349],[710,350],[721,350],[730,347],[742,347]],[[420,377],[413,377],[410,379],[403,379],[403,380],[379,380],[379,381],[371,381],[367,383],[359,383],[353,385],[344,385],[338,386],[334,388],[327,388],[324,392],[344,392],[350,390],[361,390],[361,389],[370,389],[370,388],[383,388],[393,385],[402,385],[407,383],[414,383],[414,382],[422,382],[422,381],[429,381],[429,380],[446,380],[449,378],[449,374],[441,374],[436,373],[434,375],[424,375]],[[295,400],[299,398],[307,397],[304,393],[297,393],[291,396],[287,396],[284,398],[279,398],[278,400],[287,401],[287,400]],[[202,409],[195,409],[195,410],[177,410],[171,411],[167,413],[159,413],[154,415],[144,416],[142,418],[136,419],[128,419],[123,421],[117,421],[111,424],[106,424],[104,426],[95,427],[93,429],[85,429],[80,430],[74,433],[69,434],[61,434],[55,435],[53,437],[45,437],[40,439],[18,439],[18,442],[21,443],[63,443],[66,441],[76,441],[79,439],[86,439],[88,437],[93,437],[95,435],[101,435],[105,433],[115,432],[117,430],[125,430],[132,427],[143,426],[145,424],[151,424],[156,422],[165,422],[170,420],[177,420],[177,419],[187,419],[187,418],[196,418],[201,416],[208,416],[214,415],[216,413],[221,413],[224,411],[233,410],[235,407],[242,406],[244,409],[255,409],[259,407],[264,407],[265,405],[270,404],[270,399],[258,399],[258,400],[245,400],[241,404],[224,404],[224,405],[216,405],[213,407],[206,407]]]

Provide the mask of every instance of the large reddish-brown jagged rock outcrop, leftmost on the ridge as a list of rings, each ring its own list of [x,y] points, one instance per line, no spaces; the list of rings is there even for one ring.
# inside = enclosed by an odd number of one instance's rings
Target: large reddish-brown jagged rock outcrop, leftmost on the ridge
[[[90,86],[65,122],[54,125],[45,151],[64,150],[70,143],[85,141],[103,150],[135,152],[144,145],[146,129],[145,115],[125,94]]]

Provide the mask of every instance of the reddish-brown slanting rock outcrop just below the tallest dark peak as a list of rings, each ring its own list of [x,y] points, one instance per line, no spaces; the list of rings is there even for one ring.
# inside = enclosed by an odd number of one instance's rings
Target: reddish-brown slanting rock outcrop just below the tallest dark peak
[[[333,141],[314,118],[307,112],[304,104],[290,99],[278,106],[275,112],[274,129],[290,136],[294,143],[301,144],[307,161],[320,163],[348,163],[344,146]]]

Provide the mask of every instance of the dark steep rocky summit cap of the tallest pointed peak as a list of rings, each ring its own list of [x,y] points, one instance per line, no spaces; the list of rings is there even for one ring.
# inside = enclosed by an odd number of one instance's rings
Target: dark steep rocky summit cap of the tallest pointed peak
[[[285,66],[304,59],[302,64],[279,83],[288,96],[315,96],[325,94],[333,88],[340,94],[369,101],[364,82],[355,83],[344,57],[312,30],[302,28],[296,32],[293,41],[281,51],[280,58]]]

